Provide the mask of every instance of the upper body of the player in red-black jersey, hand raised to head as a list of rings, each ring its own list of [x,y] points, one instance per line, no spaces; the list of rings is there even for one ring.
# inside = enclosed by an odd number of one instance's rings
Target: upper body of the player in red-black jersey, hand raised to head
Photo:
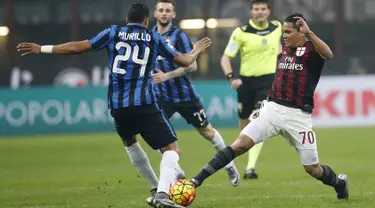
[[[294,17],[297,18],[297,23],[304,21],[302,17],[295,15],[288,17],[286,22],[296,24],[293,22]],[[305,28],[300,31],[295,28],[288,28],[286,25],[283,27],[285,45],[268,100],[311,113],[314,108],[314,91],[324,62],[331,59],[333,54],[312,32],[301,32]]]

